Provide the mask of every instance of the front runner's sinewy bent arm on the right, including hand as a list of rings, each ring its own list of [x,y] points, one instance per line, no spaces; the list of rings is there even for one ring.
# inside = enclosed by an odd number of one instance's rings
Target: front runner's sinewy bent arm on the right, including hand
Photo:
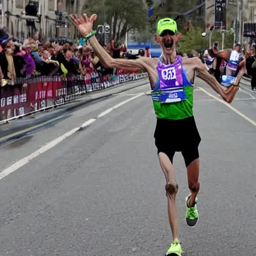
[[[231,103],[235,93],[238,90],[238,85],[240,82],[240,79],[244,73],[244,69],[241,69],[235,79],[235,82],[231,84],[228,88],[221,85],[216,78],[211,75],[206,67],[201,63],[201,61],[198,59],[196,66],[195,66],[195,72],[196,76],[205,81],[207,84],[210,85],[210,87],[217,92],[227,103]]]

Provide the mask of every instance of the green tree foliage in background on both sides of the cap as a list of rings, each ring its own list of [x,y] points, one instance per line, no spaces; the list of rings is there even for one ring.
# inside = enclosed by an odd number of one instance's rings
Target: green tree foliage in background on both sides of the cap
[[[104,22],[109,23],[111,38],[115,41],[123,42],[126,32],[132,30],[132,39],[148,42],[153,40],[157,19],[164,16],[175,17],[200,2],[202,0],[86,0],[82,11],[88,15],[98,14],[95,27]],[[154,14],[148,18],[149,7],[154,9]],[[204,37],[201,36],[205,30],[202,14],[202,9],[198,9],[177,21],[178,30],[183,34],[178,43],[179,51],[188,53],[193,49],[202,50],[209,46],[209,33]],[[233,16],[231,10],[227,13],[228,20],[229,16]],[[184,26],[188,20],[191,21],[192,27],[189,31],[185,31]],[[221,33],[213,31],[211,41],[212,43],[218,41],[219,48],[221,48]],[[225,34],[224,48],[231,48],[232,45],[233,33],[228,32]]]

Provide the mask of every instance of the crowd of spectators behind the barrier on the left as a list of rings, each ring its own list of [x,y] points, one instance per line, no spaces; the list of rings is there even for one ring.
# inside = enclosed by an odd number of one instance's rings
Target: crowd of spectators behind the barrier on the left
[[[127,58],[124,45],[109,42],[105,50],[114,58]],[[132,58],[132,57],[130,57]],[[98,72],[111,76],[115,70],[104,68],[92,47],[88,44],[65,38],[55,38],[41,42],[38,32],[23,42],[0,29],[0,77],[3,83],[16,77],[38,75],[85,75]]]

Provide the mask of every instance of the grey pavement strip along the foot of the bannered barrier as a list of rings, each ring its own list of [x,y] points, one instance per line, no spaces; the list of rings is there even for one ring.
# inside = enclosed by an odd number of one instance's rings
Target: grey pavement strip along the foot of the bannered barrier
[[[90,102],[110,97],[112,94],[120,93],[147,83],[148,78],[137,81],[124,82],[111,88],[86,93],[78,98],[70,100],[64,105],[57,106],[56,108],[51,108],[24,116],[23,118],[2,123],[0,124],[0,144],[66,118],[72,110],[84,106]]]

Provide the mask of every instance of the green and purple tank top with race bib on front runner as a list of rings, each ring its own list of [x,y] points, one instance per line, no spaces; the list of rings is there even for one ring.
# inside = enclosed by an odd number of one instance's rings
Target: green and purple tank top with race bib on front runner
[[[158,60],[158,79],[151,91],[153,107],[158,118],[184,119],[193,115],[193,85],[182,68],[182,57],[177,55],[172,64]]]

